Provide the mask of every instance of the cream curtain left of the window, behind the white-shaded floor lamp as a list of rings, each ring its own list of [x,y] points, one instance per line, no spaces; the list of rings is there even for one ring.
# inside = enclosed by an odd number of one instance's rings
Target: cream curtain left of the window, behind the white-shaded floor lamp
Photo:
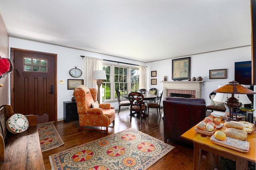
[[[97,80],[92,79],[94,70],[102,70],[102,59],[86,56],[84,58],[84,86],[98,90]],[[102,88],[100,88],[100,94],[100,103],[102,103]]]

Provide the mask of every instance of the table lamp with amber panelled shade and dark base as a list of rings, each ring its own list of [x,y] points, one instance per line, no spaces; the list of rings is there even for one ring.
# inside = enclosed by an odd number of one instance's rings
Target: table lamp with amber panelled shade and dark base
[[[225,104],[229,108],[229,118],[227,118],[226,121],[238,121],[237,119],[238,109],[242,106],[242,104],[246,104],[246,103],[242,103],[243,101],[248,102],[247,100],[248,97],[243,95],[256,94],[256,92],[240,85],[238,82],[235,82],[235,81],[229,82],[228,84],[214,90],[213,92],[224,94],[222,95],[221,100],[218,100],[218,101],[224,102],[224,100],[226,100]],[[235,94],[237,94],[236,97],[235,97]],[[225,98],[224,96],[227,96],[227,97]],[[241,102],[239,101],[240,98],[241,98],[240,100]],[[234,108],[236,108],[236,110],[234,110]],[[233,116],[234,112],[236,113],[236,117]]]

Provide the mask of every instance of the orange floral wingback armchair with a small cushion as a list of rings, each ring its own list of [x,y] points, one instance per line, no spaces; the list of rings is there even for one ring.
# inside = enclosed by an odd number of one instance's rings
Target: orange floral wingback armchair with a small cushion
[[[79,132],[81,130],[103,131],[108,134],[108,126],[115,121],[116,111],[110,108],[110,103],[99,104],[100,108],[92,108],[91,104],[96,102],[97,90],[90,88],[89,92],[82,89],[74,89],[76,97],[77,112],[79,116]],[[101,126],[106,130],[84,128],[84,126]]]

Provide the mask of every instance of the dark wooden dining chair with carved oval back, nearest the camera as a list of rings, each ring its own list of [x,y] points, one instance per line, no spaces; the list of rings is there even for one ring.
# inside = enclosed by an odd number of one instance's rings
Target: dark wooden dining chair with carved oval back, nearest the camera
[[[142,111],[145,111],[146,106],[142,104],[144,97],[139,92],[131,92],[128,95],[130,101],[130,122],[132,122],[132,111],[140,112],[140,123],[142,123]]]

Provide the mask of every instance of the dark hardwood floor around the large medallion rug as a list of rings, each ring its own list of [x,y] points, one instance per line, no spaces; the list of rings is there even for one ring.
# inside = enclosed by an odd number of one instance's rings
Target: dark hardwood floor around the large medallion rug
[[[161,109],[162,112],[162,109]],[[127,128],[134,128],[141,132],[144,132],[150,136],[153,136],[159,140],[164,141],[164,124],[160,115],[157,115],[155,109],[150,109],[149,118],[143,118],[142,123],[140,119],[132,117],[132,122],[130,122],[130,110],[123,109],[120,110],[119,115],[116,112],[115,126],[108,128],[108,134],[114,134],[120,132]],[[51,154],[60,152],[90,142],[99,138],[106,136],[103,132],[93,132],[93,131],[82,131],[78,132],[78,121],[65,123],[64,121],[54,123],[56,129],[58,130],[64,145],[48,150],[43,153],[44,166],[46,170],[51,169],[50,161],[48,156]],[[112,125],[111,125],[112,126]],[[148,170],[192,170],[193,169],[193,149],[179,146],[176,144],[168,143],[176,148],[170,151],[166,156],[158,160],[153,164]],[[211,153],[205,153],[201,160],[202,170],[214,170],[218,168],[215,163],[215,155]],[[220,162],[220,161],[219,161]]]

